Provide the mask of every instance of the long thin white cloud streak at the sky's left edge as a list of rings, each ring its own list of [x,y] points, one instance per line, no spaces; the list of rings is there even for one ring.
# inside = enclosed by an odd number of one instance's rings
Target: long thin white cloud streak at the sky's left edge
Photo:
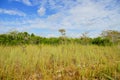
[[[0,14],[8,14],[8,15],[18,15],[18,16],[26,16],[24,12],[18,10],[8,10],[0,8]]]

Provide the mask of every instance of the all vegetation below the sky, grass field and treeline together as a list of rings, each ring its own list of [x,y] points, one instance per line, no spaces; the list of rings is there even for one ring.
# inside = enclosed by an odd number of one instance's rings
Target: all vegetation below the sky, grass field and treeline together
[[[64,29],[59,32],[59,38],[0,34],[0,80],[120,79],[120,32],[103,31],[96,38],[87,33],[67,38]]]

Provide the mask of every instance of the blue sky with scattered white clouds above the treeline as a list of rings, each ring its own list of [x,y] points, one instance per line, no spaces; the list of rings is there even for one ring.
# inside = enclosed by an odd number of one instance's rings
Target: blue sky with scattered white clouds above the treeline
[[[0,33],[26,31],[44,37],[68,37],[104,30],[120,31],[120,0],[0,0]]]

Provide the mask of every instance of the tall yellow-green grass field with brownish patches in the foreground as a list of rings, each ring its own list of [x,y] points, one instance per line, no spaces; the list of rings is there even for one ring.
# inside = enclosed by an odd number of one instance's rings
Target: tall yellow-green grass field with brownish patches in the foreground
[[[0,80],[120,80],[120,47],[0,46]]]

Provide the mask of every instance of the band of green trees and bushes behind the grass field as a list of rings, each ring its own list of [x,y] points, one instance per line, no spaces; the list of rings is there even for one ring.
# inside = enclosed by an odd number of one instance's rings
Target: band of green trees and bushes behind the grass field
[[[77,43],[83,45],[112,45],[120,43],[120,32],[114,30],[107,30],[101,33],[101,36],[96,38],[90,38],[86,34],[83,34],[80,38],[67,38],[65,36],[60,36],[58,38],[51,37],[40,37],[33,33],[29,34],[27,32],[12,31],[6,34],[0,34],[0,44],[1,45],[23,45],[23,44],[69,44]]]

